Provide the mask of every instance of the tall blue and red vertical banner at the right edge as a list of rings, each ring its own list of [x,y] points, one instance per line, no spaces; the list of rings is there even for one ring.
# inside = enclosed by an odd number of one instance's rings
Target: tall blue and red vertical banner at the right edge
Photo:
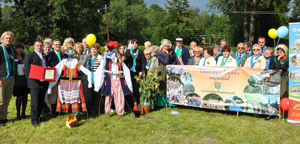
[[[289,23],[289,80],[287,122],[300,122],[300,22]]]

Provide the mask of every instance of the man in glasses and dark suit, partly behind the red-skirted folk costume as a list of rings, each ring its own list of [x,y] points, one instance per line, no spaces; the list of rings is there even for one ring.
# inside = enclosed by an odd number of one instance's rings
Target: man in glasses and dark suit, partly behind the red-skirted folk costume
[[[61,44],[58,39],[53,40],[52,47],[54,48],[54,50],[47,55],[48,65],[50,67],[55,67],[62,59],[68,58],[68,54],[66,53],[62,54],[62,52],[59,51],[60,46]],[[54,118],[57,116],[56,105],[57,105],[57,96],[58,96],[58,85],[59,85],[59,81],[52,87],[51,89],[52,94],[50,96],[52,116]]]

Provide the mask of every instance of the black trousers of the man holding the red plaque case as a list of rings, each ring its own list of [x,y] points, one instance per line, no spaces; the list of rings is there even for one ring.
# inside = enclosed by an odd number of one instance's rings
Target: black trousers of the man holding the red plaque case
[[[45,100],[45,94],[47,92],[48,86],[44,86],[44,88],[39,89],[30,89],[31,95],[31,123],[35,124],[39,122],[39,117],[41,117],[43,104]]]

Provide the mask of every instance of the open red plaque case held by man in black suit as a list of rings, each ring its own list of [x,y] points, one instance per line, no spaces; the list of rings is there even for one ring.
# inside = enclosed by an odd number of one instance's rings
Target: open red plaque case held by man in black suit
[[[54,70],[54,76],[52,79],[45,79],[45,71],[49,69]],[[31,64],[29,78],[45,80],[45,81],[55,81],[56,67],[43,67],[43,66]]]

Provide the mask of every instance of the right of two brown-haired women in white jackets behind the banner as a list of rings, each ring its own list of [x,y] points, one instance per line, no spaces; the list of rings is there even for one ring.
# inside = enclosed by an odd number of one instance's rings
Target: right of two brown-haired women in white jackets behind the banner
[[[223,56],[218,58],[217,66],[237,66],[237,61],[230,55],[231,48],[229,45],[224,45],[221,49]]]

